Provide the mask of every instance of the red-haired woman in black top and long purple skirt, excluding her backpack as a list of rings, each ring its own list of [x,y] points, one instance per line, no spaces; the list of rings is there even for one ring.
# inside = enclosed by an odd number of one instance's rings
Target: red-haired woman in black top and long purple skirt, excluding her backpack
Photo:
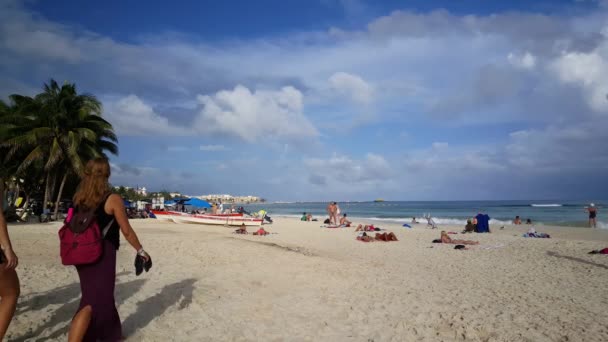
[[[127,242],[146,261],[150,260],[129,224],[123,199],[111,194],[108,178],[110,164],[105,158],[89,161],[78,190],[74,208],[95,209],[99,227],[111,226],[103,240],[101,258],[86,265],[77,265],[82,297],[72,319],[68,341],[120,341],[123,339],[120,317],[114,301],[116,284],[116,250],[120,245],[119,228]]]

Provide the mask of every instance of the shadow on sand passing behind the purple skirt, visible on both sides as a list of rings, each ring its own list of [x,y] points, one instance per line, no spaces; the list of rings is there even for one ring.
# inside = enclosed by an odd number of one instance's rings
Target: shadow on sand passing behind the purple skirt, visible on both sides
[[[136,279],[126,283],[116,284],[116,305],[120,305],[135,294],[145,282],[144,279]],[[80,304],[80,283],[62,286],[55,290],[35,295],[33,298],[26,300],[23,304],[20,303],[18,312],[40,310],[44,309],[47,305],[61,303],[63,303],[63,305],[56,310],[48,310],[49,316],[52,316],[43,325],[24,335],[11,338],[11,341],[33,341],[34,338],[40,336],[45,330],[53,329],[56,326],[59,326],[57,330],[45,337],[39,337],[35,341],[46,341],[66,334],[69,329],[69,322],[72,320],[72,317]]]

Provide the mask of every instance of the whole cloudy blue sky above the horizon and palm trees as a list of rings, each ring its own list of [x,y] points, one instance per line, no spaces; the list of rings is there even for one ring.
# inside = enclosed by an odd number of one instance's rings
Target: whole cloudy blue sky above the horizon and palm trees
[[[581,199],[608,181],[604,1],[0,0],[0,96],[50,78],[115,184],[270,200]]]

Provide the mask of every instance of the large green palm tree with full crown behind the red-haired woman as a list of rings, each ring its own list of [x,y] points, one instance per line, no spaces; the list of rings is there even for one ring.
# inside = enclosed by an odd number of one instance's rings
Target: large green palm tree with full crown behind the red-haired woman
[[[59,86],[51,80],[34,98],[12,95],[11,100],[25,122],[2,145],[9,147],[9,158],[26,151],[18,171],[27,169],[34,161],[43,162],[44,205],[55,193],[57,176],[63,175],[55,203],[57,217],[67,178],[82,175],[84,160],[106,156],[106,151],[117,154],[117,137],[112,125],[101,117],[101,103],[93,95],[78,94],[75,84]]]

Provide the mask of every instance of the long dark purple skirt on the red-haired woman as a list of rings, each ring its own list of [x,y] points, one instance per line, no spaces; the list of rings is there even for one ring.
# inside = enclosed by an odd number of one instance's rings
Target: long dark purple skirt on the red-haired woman
[[[101,258],[94,264],[76,266],[76,270],[82,292],[78,311],[87,305],[93,311],[84,341],[120,341],[122,327],[114,301],[116,249],[104,240]]]

